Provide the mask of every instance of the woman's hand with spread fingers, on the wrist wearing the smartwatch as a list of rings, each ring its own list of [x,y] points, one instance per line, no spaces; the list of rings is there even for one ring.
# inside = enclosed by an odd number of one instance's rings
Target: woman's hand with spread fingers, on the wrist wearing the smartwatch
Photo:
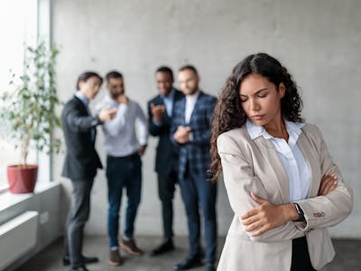
[[[245,231],[251,232],[252,237],[259,236],[267,230],[282,226],[288,220],[298,217],[293,204],[274,205],[251,192],[251,197],[260,205],[248,210],[241,216]]]

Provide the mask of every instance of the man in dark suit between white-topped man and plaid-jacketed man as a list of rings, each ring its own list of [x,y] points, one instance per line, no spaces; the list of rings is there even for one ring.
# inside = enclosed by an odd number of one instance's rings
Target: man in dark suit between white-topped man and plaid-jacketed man
[[[158,194],[162,201],[163,241],[154,248],[151,256],[161,255],[174,249],[172,237],[173,194],[178,180],[178,149],[171,144],[170,130],[173,105],[184,95],[173,88],[173,72],[162,66],[156,70],[155,79],[159,95],[148,102],[149,131],[159,136],[155,157],[155,171],[158,173]]]

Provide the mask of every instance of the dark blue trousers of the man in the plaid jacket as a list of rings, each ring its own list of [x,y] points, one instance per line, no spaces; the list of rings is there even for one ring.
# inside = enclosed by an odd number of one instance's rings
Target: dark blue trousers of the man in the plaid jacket
[[[186,178],[180,179],[180,190],[187,212],[190,256],[200,251],[200,204],[204,219],[206,262],[214,264],[217,249],[217,184],[207,181],[204,176],[189,173]]]

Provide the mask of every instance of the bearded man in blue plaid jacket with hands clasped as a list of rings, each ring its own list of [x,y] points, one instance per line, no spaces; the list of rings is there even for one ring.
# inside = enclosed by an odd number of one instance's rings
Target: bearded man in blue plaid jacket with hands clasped
[[[180,147],[179,182],[185,204],[190,253],[175,270],[202,265],[199,205],[204,219],[206,270],[215,270],[217,248],[216,183],[207,180],[209,169],[210,123],[216,98],[199,90],[199,75],[190,65],[180,68],[180,90],[185,98],[174,105],[171,140]]]

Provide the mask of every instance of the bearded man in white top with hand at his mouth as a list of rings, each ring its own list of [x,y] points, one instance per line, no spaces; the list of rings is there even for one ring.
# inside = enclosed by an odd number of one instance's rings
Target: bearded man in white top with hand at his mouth
[[[106,89],[109,95],[97,105],[116,107],[116,117],[103,125],[106,147],[106,179],[108,185],[109,210],[107,231],[109,236],[109,265],[120,266],[123,258],[120,245],[128,254],[143,255],[134,241],[134,220],[141,201],[142,161],[148,141],[147,121],[142,108],[125,96],[123,75],[118,71],[106,74]],[[135,133],[137,124],[137,134]],[[123,188],[126,189],[125,231],[118,241],[119,210]]]

